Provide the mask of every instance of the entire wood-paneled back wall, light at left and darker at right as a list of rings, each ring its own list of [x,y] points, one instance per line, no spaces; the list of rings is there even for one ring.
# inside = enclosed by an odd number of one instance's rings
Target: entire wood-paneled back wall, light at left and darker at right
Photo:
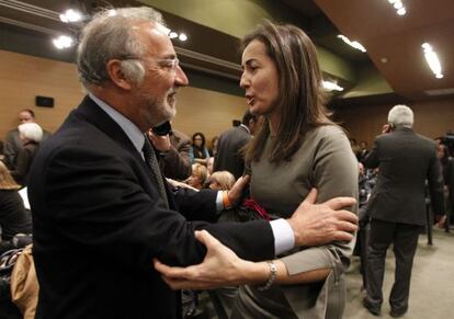
[[[35,106],[35,96],[55,99],[53,109]],[[37,122],[47,130],[58,128],[84,93],[72,64],[0,50],[0,139],[16,126],[18,113],[32,109]],[[408,104],[415,112],[415,128],[428,137],[454,132],[454,98]],[[336,110],[351,137],[372,145],[393,105],[354,105]],[[197,88],[183,88],[178,95],[178,114],[173,126],[192,135],[203,132],[212,137],[240,119],[246,110],[245,99]]]

